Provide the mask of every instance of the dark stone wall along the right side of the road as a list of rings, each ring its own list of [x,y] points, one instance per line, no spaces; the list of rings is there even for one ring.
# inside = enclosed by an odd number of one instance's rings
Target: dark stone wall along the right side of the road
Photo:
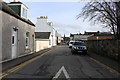
[[[96,53],[120,61],[120,40],[89,40],[89,53]]]

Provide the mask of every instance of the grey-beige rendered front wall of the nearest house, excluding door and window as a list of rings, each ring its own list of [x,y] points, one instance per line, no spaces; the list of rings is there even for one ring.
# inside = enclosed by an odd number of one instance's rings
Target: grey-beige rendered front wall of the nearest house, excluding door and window
[[[31,52],[34,52],[34,31],[35,27],[32,25],[29,25],[5,12],[2,12],[2,57],[3,60],[11,59],[12,55],[12,41],[11,41],[11,35],[12,35],[12,29],[13,27],[18,28],[18,40],[17,40],[17,57],[29,54]],[[25,47],[25,40],[26,40],[26,32],[30,33],[29,36],[29,48],[26,49]]]

